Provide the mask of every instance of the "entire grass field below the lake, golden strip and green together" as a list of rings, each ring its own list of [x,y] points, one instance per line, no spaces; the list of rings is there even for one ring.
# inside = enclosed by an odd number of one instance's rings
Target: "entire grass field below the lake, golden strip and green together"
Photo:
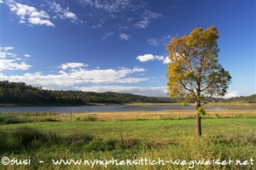
[[[1,115],[0,169],[256,169],[256,111],[208,114],[201,137],[195,111]]]

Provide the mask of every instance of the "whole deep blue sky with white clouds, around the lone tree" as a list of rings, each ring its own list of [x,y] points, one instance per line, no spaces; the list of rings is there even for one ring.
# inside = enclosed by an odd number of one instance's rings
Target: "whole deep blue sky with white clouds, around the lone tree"
[[[0,0],[0,80],[166,96],[166,44],[216,26],[226,97],[255,94],[254,0]]]

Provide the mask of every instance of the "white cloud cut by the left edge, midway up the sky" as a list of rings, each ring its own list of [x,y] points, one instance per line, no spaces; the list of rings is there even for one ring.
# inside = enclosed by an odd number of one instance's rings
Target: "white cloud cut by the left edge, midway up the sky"
[[[28,70],[31,65],[27,65],[17,54],[10,53],[14,47],[0,47],[0,71],[3,70]]]

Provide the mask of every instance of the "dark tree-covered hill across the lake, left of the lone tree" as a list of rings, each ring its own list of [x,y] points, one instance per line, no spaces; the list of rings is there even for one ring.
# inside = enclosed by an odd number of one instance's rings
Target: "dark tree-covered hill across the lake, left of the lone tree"
[[[127,103],[174,103],[168,97],[147,97],[114,92],[83,92],[72,90],[46,90],[26,85],[25,82],[0,81],[0,104],[2,105],[90,105]]]

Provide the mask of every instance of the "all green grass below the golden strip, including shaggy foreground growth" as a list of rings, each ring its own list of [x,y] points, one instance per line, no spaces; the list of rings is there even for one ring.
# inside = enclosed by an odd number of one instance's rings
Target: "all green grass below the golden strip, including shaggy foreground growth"
[[[24,117],[20,117],[20,119]],[[10,119],[13,119],[10,118]],[[38,118],[40,119],[40,118]],[[6,118],[8,120],[8,118]],[[82,165],[54,165],[52,160],[185,160],[186,165],[115,166],[108,169],[255,169],[256,118],[202,119],[202,137],[195,137],[195,119],[94,121],[81,116],[62,122],[45,120],[0,126],[0,158],[30,161],[0,169],[105,169]],[[193,165],[192,161],[248,161],[248,165]],[[44,161],[44,163],[39,163]],[[193,161],[194,162],[194,161]]]

